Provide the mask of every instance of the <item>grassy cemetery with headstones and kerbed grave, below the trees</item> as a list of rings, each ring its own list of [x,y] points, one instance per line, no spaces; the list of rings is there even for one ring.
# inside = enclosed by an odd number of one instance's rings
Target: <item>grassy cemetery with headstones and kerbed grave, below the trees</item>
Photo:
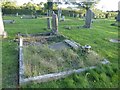
[[[2,88],[117,88],[119,11],[46,4],[42,17],[0,10]]]

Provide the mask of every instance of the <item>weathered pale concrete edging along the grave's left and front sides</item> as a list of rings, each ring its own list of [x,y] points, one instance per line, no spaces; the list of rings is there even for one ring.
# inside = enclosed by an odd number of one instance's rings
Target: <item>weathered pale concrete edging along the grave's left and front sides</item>
[[[110,63],[108,60],[104,59],[104,61],[101,62],[102,64],[108,64]],[[28,83],[31,81],[37,81],[37,82],[46,82],[49,80],[56,80],[60,78],[64,78],[68,75],[71,75],[73,73],[81,73],[83,71],[89,70],[89,69],[94,69],[97,66],[91,66],[91,67],[86,67],[86,68],[80,68],[80,69],[74,69],[74,70],[68,70],[68,71],[63,71],[63,72],[58,72],[58,73],[51,73],[51,74],[45,74],[45,75],[40,75],[40,76],[35,76],[35,77],[29,77],[29,78],[24,78],[24,63],[23,63],[23,40],[20,38],[20,45],[19,45],[19,85],[22,85],[24,83]]]

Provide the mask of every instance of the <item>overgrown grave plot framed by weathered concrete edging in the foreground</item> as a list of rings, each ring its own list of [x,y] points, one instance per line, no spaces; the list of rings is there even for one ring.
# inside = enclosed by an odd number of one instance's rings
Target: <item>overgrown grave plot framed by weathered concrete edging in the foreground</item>
[[[20,83],[63,77],[105,63],[91,46],[62,35],[25,36],[20,41]],[[108,61],[107,61],[108,63]]]

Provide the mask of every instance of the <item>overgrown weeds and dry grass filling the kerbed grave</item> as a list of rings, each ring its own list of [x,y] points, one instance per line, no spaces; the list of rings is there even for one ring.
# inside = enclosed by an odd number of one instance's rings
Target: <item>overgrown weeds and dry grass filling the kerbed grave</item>
[[[24,47],[25,76],[78,69],[97,65],[101,60],[96,53],[86,55],[80,56],[72,49],[53,50],[48,45]]]

